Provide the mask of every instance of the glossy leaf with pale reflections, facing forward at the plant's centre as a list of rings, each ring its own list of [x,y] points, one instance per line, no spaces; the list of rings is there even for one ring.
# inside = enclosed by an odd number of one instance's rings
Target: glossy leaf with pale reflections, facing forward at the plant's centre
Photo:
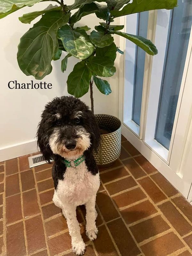
[[[94,45],[83,29],[76,31],[65,25],[58,30],[58,38],[61,39],[65,49],[80,60],[87,59],[94,50]]]

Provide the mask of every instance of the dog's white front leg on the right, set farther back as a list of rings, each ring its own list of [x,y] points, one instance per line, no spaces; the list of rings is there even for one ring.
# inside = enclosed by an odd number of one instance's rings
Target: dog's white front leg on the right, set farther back
[[[93,196],[86,204],[86,235],[92,241],[97,238],[98,229],[95,224],[97,212],[95,209],[96,196]]]

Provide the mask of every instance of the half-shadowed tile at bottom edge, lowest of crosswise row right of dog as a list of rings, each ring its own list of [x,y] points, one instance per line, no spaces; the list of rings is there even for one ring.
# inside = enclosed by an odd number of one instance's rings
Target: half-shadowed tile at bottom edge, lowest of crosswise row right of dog
[[[145,256],[166,256],[183,247],[180,239],[171,232],[142,245],[141,250]]]

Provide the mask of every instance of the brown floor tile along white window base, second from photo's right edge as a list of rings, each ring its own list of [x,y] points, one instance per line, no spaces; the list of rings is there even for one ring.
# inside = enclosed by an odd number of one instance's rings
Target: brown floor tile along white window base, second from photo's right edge
[[[175,189],[160,172],[151,175],[151,178],[157,183],[157,185],[164,191],[167,196],[174,196],[178,193],[177,189]]]

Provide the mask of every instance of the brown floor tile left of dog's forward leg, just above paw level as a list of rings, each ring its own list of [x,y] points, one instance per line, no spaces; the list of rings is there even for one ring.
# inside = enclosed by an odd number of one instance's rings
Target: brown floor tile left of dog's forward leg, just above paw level
[[[67,220],[63,216],[59,216],[48,222],[45,222],[45,228],[47,236],[52,236],[68,228]]]

